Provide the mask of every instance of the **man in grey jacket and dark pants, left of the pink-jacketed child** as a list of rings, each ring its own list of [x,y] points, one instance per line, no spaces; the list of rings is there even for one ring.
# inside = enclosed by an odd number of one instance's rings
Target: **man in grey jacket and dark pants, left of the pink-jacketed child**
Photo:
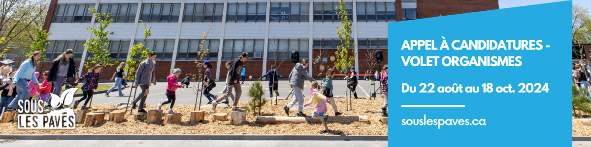
[[[131,105],[131,109],[135,109],[136,103],[139,102],[138,113],[147,113],[145,108],[146,98],[150,93],[150,85],[154,83],[156,85],[156,52],[152,51],[148,54],[148,59],[139,63],[138,71],[135,72],[135,88],[139,86],[142,89],[142,93],[134,99]]]

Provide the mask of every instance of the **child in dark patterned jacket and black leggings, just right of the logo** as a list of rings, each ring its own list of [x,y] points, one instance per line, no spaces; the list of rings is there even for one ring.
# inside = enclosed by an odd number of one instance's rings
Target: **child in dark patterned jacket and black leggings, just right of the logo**
[[[95,89],[99,87],[99,77],[100,77],[100,71],[102,71],[102,69],[103,69],[103,65],[97,64],[94,67],[92,67],[92,69],[90,69],[88,71],[88,73],[86,73],[86,75],[83,75],[80,78],[80,79],[85,79],[85,82],[82,84],[82,98],[80,100],[74,102],[74,109],[76,109],[78,107],[78,104],[80,103],[80,101],[83,101],[85,99],[86,99],[86,101],[84,101],[84,105],[82,105],[82,108],[80,108],[80,110],[88,110],[89,109],[89,108],[86,108],[86,104],[88,104],[89,99],[92,99],[92,92],[95,91]],[[80,79],[78,79],[78,81]]]

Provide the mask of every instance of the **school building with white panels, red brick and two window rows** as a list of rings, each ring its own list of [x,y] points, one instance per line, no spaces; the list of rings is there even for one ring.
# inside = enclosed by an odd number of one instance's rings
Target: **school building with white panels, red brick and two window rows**
[[[165,3],[164,3],[165,2]],[[356,70],[360,74],[376,70],[372,52],[384,52],[388,64],[388,22],[463,14],[498,9],[497,0],[346,0],[345,9],[353,21],[352,41],[355,41]],[[48,70],[51,61],[65,49],[74,50],[74,60],[84,62],[89,56],[83,44],[93,37],[89,27],[98,26],[88,8],[110,13],[113,19],[106,30],[110,31],[111,58],[124,62],[134,44],[158,52],[157,78],[165,79],[173,68],[181,68],[183,74],[197,74],[202,33],[204,48],[209,55],[204,60],[214,67],[216,80],[225,80],[227,69],[223,64],[233,61],[241,52],[249,53],[245,62],[246,76],[257,79],[271,65],[278,65],[280,75],[287,78],[293,68],[292,51],[300,52],[300,59],[307,58],[315,65],[323,62],[332,67],[337,46],[340,45],[335,26],[342,26],[335,7],[337,0],[52,0],[43,29],[51,33],[47,46]],[[469,18],[466,18],[469,19]],[[151,36],[144,38],[146,29]],[[399,28],[421,29],[421,28]],[[395,32],[395,31],[394,31]],[[404,34],[395,34],[404,35]],[[320,53],[322,55],[319,55]],[[319,63],[314,59],[320,56]],[[394,58],[397,59],[397,58]],[[80,66],[80,62],[76,63]],[[320,68],[307,67],[311,75],[319,77]],[[81,72],[86,72],[84,68]],[[103,79],[110,79],[115,67],[103,69]],[[181,78],[184,76],[181,76]]]

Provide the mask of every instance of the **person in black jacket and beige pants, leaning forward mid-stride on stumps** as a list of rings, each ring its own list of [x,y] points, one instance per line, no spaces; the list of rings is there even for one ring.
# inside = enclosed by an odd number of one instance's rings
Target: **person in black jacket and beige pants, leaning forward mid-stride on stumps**
[[[234,99],[232,111],[241,111],[240,108],[236,107],[238,106],[238,100],[240,100],[240,96],[242,95],[242,88],[240,86],[240,82],[238,82],[238,79],[240,78],[239,73],[241,73],[241,71],[243,70],[242,65],[244,64],[244,62],[246,62],[246,59],[248,59],[248,53],[242,52],[242,55],[238,56],[238,59],[235,59],[234,62],[232,62],[232,66],[230,66],[229,69],[230,71],[228,71],[228,74],[230,75],[230,80],[227,82],[228,91],[226,91],[226,93],[224,93],[223,96],[218,96],[216,101],[212,102],[213,112],[216,112],[216,106],[218,102],[221,102],[223,99],[226,99],[230,97],[230,95],[232,95],[232,88],[234,89],[234,92],[236,92],[236,97]]]

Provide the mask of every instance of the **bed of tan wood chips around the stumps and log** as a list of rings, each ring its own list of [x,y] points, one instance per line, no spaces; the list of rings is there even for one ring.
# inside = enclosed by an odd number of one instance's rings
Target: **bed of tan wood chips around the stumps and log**
[[[271,104],[271,101],[267,102],[261,111],[261,116],[286,116],[282,106],[287,105],[291,100],[280,99],[277,106],[274,105],[275,102],[273,104]],[[306,98],[307,101],[309,101],[309,98]],[[339,111],[344,112],[341,116],[368,116],[371,123],[329,123],[328,127],[332,132],[324,134],[388,135],[388,125],[378,121],[381,118],[381,112],[376,112],[381,108],[383,102],[383,98],[377,98],[376,100],[367,98],[353,99],[353,110],[345,111],[345,98],[337,98],[336,103]],[[246,102],[241,102],[238,106],[246,106]],[[94,112],[111,112],[119,109],[113,105],[93,105],[92,107],[95,110]],[[168,105],[162,107],[164,112],[168,111],[168,107]],[[329,104],[327,107],[327,114],[334,116],[332,106]],[[256,116],[253,116],[252,112],[248,113],[246,122],[238,126],[230,125],[229,121],[212,122],[213,112],[211,109],[207,109],[206,121],[189,124],[190,111],[193,111],[193,108],[192,105],[174,106],[174,112],[183,114],[182,122],[168,125],[132,121],[132,115],[128,115],[128,111],[124,122],[114,123],[105,119],[105,121],[95,126],[83,127],[82,124],[78,124],[76,129],[17,129],[17,123],[0,123],[2,130],[0,134],[320,134],[324,130],[321,123],[259,125],[255,123]],[[156,109],[156,106],[150,105],[146,108],[147,111],[151,109]],[[217,113],[229,112],[229,108],[217,108]],[[296,112],[297,109],[291,109],[290,116],[295,116]],[[311,115],[312,112],[313,109],[304,111],[307,115]],[[106,116],[108,117],[108,115]],[[574,123],[573,135],[575,135]]]

